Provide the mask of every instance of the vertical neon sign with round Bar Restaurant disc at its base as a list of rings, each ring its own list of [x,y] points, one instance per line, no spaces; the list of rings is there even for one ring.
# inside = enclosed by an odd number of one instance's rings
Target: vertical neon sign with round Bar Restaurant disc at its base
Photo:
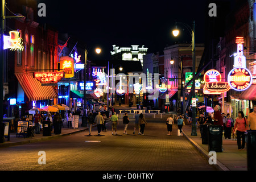
[[[243,55],[242,37],[236,38],[237,55],[234,56],[234,68],[229,72],[228,83],[231,88],[237,91],[243,91],[250,87],[253,82],[253,76],[246,68],[246,57]]]

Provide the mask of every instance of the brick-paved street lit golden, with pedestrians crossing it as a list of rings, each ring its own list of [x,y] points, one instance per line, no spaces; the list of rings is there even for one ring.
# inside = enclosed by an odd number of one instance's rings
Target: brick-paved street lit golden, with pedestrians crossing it
[[[167,136],[164,119],[147,119],[144,135],[133,135],[134,119],[127,133],[122,122],[118,135],[110,123],[104,136],[88,131],[30,144],[0,148],[0,170],[30,171],[214,171],[185,137],[177,137],[177,126]],[[85,142],[89,141],[89,142]],[[39,151],[46,152],[46,164],[39,164]]]

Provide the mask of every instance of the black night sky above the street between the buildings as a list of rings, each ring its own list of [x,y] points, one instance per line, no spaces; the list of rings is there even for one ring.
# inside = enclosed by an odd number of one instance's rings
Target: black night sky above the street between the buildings
[[[180,38],[174,38],[171,30],[175,22],[184,22],[192,27],[196,22],[196,43],[204,43],[205,12],[207,1],[78,1],[38,0],[46,4],[47,22],[59,32],[78,36],[88,47],[100,46],[100,59],[110,59],[112,45],[130,47],[144,45],[148,52],[163,51],[168,44],[177,41],[191,42],[184,28]],[[93,56],[93,55],[92,55]]]

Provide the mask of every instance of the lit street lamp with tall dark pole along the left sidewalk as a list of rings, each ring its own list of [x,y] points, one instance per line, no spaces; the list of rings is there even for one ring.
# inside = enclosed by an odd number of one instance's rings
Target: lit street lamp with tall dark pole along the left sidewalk
[[[96,48],[96,53],[100,53],[101,49],[100,48]],[[85,61],[84,61],[84,115],[82,115],[82,125],[81,126],[87,126],[87,122],[86,122],[86,68],[87,68],[87,54],[88,51],[85,48]]]

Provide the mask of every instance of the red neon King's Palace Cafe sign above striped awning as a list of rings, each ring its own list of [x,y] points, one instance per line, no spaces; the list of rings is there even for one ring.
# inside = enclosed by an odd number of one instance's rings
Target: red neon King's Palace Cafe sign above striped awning
[[[33,76],[40,82],[56,83],[60,81],[61,78],[64,77],[64,73],[63,72],[42,72],[42,73],[35,72]]]

